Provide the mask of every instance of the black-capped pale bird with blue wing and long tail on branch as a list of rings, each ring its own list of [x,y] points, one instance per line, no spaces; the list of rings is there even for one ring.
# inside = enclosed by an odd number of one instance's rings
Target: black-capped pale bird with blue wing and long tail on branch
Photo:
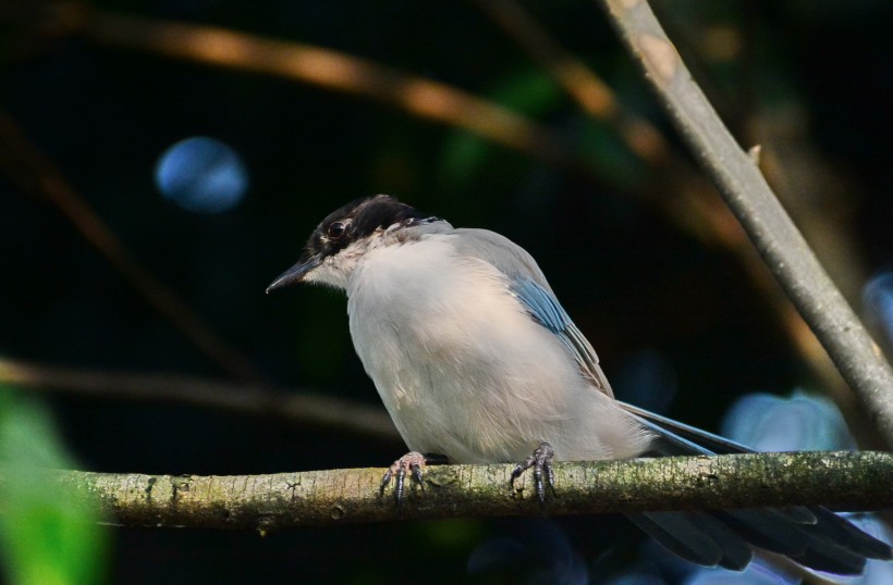
[[[411,449],[380,486],[393,480],[397,503],[431,462],[517,463],[512,481],[533,470],[543,502],[553,461],[753,452],[616,400],[534,258],[494,232],[388,195],[356,199],[322,220],[267,292],[296,283],[346,292],[356,353]],[[683,559],[735,571],[755,549],[842,575],[893,557],[820,506],[628,516]]]

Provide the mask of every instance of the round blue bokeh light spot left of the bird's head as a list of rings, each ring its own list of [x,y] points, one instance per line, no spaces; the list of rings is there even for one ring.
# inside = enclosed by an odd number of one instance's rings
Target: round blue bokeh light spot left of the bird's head
[[[168,148],[155,170],[161,194],[195,213],[228,211],[242,201],[248,173],[236,152],[215,138],[196,136]]]

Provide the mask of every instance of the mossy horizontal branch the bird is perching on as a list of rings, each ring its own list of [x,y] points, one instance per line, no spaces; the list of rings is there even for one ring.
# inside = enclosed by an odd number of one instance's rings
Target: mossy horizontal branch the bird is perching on
[[[397,509],[383,469],[196,476],[53,471],[124,526],[273,528],[395,520],[540,515],[531,474],[514,465],[437,465]],[[893,455],[755,453],[555,464],[550,515],[825,505],[893,506]]]

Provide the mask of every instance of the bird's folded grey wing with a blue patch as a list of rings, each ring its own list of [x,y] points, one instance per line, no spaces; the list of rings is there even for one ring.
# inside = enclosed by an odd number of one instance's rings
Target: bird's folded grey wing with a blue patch
[[[510,289],[530,316],[555,334],[596,388],[613,397],[596,350],[561,307],[536,261],[510,239],[486,229],[457,229],[457,251],[484,260],[509,277]]]

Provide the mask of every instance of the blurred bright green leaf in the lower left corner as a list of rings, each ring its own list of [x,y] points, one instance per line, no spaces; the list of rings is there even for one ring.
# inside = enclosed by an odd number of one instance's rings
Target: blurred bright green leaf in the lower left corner
[[[89,502],[48,480],[45,469],[77,469],[49,413],[0,388],[0,559],[9,583],[99,583],[108,531]]]

